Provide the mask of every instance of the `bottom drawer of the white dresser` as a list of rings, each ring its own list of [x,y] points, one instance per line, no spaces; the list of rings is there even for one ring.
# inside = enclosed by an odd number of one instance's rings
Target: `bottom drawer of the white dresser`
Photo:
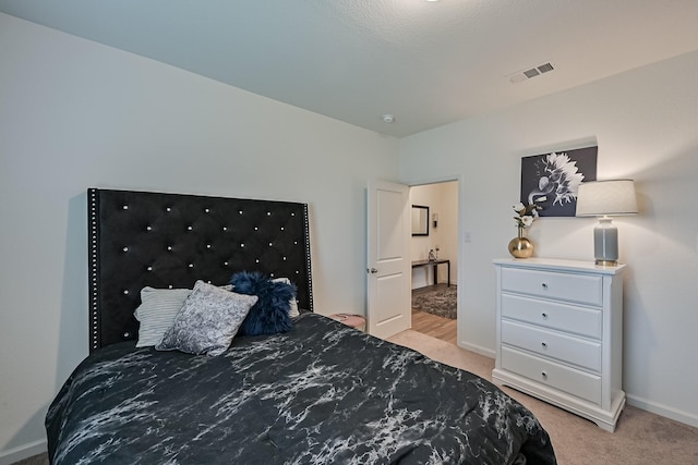
[[[601,404],[601,377],[502,347],[502,368],[541,384]]]

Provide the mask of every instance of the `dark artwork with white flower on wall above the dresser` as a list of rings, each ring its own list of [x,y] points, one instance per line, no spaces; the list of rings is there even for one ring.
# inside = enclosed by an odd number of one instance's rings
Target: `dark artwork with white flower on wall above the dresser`
[[[574,217],[579,184],[597,180],[599,147],[521,158],[521,203],[537,204],[539,217]]]

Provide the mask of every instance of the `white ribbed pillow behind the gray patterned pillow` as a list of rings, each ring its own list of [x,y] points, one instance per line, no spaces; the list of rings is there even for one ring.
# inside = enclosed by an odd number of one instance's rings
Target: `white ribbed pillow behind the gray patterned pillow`
[[[231,285],[221,286],[230,291]],[[165,331],[172,326],[174,317],[182,309],[184,301],[192,293],[191,289],[155,289],[145,286],[141,290],[141,305],[133,314],[141,322],[136,347],[157,345],[163,341]]]

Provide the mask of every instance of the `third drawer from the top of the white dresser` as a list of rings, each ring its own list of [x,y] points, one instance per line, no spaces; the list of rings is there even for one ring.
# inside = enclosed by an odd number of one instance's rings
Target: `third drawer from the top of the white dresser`
[[[502,321],[502,343],[515,345],[565,364],[601,371],[601,343],[574,338],[565,333]]]

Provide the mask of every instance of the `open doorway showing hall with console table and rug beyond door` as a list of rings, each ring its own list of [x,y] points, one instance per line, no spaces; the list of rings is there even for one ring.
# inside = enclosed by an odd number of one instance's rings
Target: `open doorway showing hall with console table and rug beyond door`
[[[458,181],[410,187],[410,204],[429,228],[411,235],[412,330],[457,345]]]

